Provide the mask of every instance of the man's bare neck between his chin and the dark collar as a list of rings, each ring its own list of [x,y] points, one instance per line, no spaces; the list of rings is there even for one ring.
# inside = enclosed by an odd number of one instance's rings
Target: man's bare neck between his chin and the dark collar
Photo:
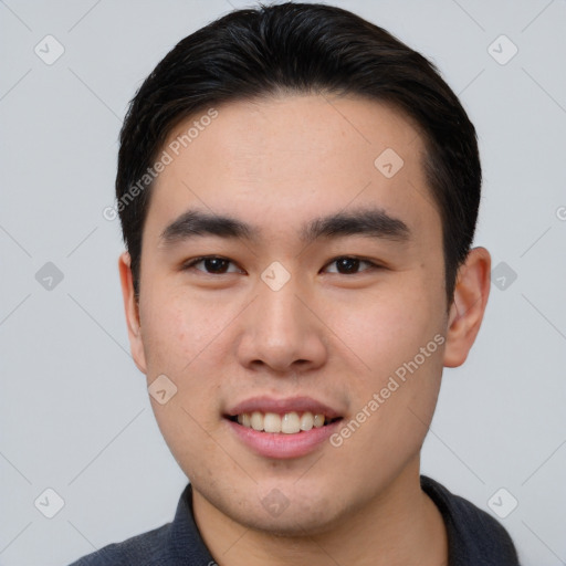
[[[249,528],[221,513],[195,489],[192,506],[205,544],[222,566],[448,564],[444,523],[420,489],[418,459],[384,492],[361,509],[345,512],[322,533],[281,536]]]

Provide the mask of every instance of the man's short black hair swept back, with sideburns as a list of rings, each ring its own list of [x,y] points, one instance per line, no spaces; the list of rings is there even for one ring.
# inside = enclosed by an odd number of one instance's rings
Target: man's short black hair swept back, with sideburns
[[[294,2],[235,10],[199,29],[159,62],[132,99],[120,132],[116,198],[136,297],[151,195],[147,172],[171,129],[212,105],[282,93],[361,96],[412,118],[424,142],[422,166],[442,220],[450,305],[480,206],[473,124],[420,53],[347,10]]]

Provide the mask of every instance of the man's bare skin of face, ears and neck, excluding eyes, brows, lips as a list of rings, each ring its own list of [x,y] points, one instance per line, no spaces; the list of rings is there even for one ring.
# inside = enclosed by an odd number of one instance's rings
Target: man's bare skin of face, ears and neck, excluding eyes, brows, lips
[[[480,328],[489,252],[470,252],[448,305],[422,138],[391,107],[281,95],[217,109],[151,189],[139,302],[127,252],[119,259],[134,360],[148,384],[165,374],[178,388],[167,403],[151,402],[192,483],[205,543],[228,566],[447,564],[446,528],[420,489],[419,454],[442,368],[465,360]],[[374,166],[388,147],[405,161],[390,179]],[[314,218],[376,206],[409,227],[407,242],[348,235],[305,247],[300,239]],[[203,235],[165,245],[161,232],[189,208],[253,224],[258,240]],[[208,254],[233,262],[229,272],[181,269]],[[381,268],[339,273],[333,260],[340,256]],[[261,279],[274,261],[291,274],[276,292]],[[305,395],[348,421],[436,335],[443,345],[339,448],[263,458],[222,418],[256,395]],[[273,489],[289,501],[279,516],[262,505]]]

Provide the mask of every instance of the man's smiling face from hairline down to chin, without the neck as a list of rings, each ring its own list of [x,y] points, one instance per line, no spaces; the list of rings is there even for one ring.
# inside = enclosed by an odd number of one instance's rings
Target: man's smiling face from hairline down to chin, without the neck
[[[123,270],[134,358],[199,501],[324,531],[418,474],[436,406],[452,319],[422,138],[357,98],[216,111],[164,147],[138,307]]]

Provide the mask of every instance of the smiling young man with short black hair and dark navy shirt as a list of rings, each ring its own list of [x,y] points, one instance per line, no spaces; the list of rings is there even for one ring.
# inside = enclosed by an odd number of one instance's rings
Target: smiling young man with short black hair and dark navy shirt
[[[130,347],[190,480],[171,524],[77,565],[516,565],[420,475],[490,289],[475,130],[421,55],[338,8],[182,40],[120,135]]]

